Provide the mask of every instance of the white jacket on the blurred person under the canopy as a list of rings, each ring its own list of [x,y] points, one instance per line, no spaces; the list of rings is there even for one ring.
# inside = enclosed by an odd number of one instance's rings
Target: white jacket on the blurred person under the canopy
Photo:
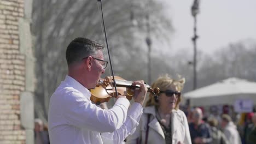
[[[233,122],[229,122],[224,128],[224,135],[228,139],[229,143],[241,144],[240,135],[237,131],[236,125]]]

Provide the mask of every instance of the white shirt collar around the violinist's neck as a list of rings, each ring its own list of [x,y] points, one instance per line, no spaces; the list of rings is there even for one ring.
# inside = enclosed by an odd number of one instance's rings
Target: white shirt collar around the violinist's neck
[[[83,93],[85,96],[91,96],[90,91],[77,80],[75,80],[73,77],[66,75],[65,82],[67,82],[67,84],[71,85],[73,88],[77,89],[79,92]]]

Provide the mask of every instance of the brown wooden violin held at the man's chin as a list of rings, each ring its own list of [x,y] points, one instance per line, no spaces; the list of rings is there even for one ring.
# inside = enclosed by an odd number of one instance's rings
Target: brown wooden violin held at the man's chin
[[[114,79],[117,86],[117,91],[115,91],[113,86],[113,77],[107,76],[105,79],[100,79],[94,89],[90,89],[91,101],[98,105],[109,101],[110,98],[116,98],[117,94],[125,95],[128,100],[131,100],[134,94],[133,90],[140,87],[139,85],[132,86],[132,81],[126,81],[119,76],[114,76]],[[146,85],[146,87],[148,88],[148,92],[152,93],[154,98],[157,99],[160,93],[160,89],[153,89],[149,85]]]

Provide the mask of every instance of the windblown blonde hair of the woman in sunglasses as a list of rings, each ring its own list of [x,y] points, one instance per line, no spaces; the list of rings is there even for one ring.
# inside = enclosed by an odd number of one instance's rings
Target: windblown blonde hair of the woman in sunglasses
[[[171,85],[174,85],[177,87],[178,91],[181,92],[185,83],[185,78],[181,78],[181,76],[178,76],[177,80],[171,79],[168,75],[165,76],[160,76],[158,79],[153,82],[152,88],[160,88],[160,91],[166,91],[167,88],[169,88]],[[175,109],[179,109],[179,103],[181,102],[181,97],[178,98],[176,104],[175,104]],[[154,95],[152,93],[149,94],[149,99],[146,103],[146,106],[158,106],[158,100],[154,99]]]

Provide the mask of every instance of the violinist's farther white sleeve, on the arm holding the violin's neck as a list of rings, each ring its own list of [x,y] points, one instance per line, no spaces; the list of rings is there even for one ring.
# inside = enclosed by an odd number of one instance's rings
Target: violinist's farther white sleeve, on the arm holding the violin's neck
[[[138,126],[143,108],[139,103],[133,103],[127,112],[125,123],[113,133],[102,133],[104,143],[121,143],[128,135],[132,135]]]

